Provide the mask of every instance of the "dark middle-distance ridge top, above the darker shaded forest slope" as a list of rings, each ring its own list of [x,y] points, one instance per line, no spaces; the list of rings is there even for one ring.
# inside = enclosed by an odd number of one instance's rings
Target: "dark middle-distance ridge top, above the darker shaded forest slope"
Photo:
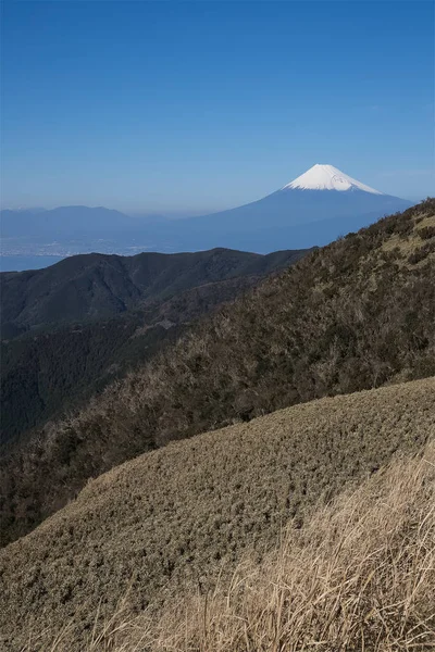
[[[264,276],[306,251],[269,255],[213,249],[196,253],[75,255],[45,269],[0,274],[1,324],[13,329],[108,318],[197,286]]]

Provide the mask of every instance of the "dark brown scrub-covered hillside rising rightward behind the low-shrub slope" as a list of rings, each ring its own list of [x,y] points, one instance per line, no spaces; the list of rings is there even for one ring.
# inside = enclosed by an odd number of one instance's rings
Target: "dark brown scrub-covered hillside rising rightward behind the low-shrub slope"
[[[435,200],[319,249],[2,465],[5,541],[171,440],[435,373]]]

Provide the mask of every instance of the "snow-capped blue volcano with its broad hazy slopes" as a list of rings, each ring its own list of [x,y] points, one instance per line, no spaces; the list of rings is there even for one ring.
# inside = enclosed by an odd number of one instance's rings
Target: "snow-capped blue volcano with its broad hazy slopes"
[[[229,247],[268,253],[327,244],[403,211],[412,202],[385,195],[333,165],[313,165],[279,190],[251,203],[183,220],[176,234],[185,247]]]

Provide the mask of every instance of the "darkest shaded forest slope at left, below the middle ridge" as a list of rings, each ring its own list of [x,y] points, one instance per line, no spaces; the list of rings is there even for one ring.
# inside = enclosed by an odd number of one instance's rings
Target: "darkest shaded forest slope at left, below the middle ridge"
[[[141,311],[0,342],[1,446],[70,411],[144,363],[181,331]]]

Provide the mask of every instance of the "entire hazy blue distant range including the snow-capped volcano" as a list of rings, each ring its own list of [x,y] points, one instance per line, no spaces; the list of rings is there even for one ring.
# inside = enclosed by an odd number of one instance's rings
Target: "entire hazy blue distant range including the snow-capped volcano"
[[[312,166],[266,197],[201,217],[177,221],[130,217],[104,208],[2,211],[7,251],[196,251],[224,247],[269,253],[323,246],[411,202],[385,195],[333,165]],[[39,248],[39,249],[38,249]]]

